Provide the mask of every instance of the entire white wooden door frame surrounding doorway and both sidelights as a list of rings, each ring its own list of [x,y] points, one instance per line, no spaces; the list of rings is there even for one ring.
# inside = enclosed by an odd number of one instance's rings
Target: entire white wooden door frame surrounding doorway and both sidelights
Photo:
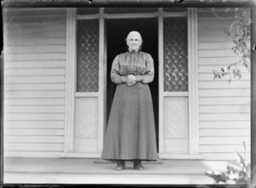
[[[189,154],[173,155],[164,151],[164,97],[163,89],[163,20],[166,17],[188,18],[188,68],[189,68]],[[102,153],[103,134],[106,128],[107,114],[107,46],[106,19],[158,18],[159,26],[159,157],[160,158],[201,158],[199,155],[199,121],[198,121],[198,41],[197,41],[197,9],[189,8],[188,12],[164,12],[162,8],[155,13],[137,14],[106,14],[100,8],[99,14],[77,15],[76,8],[67,9],[67,64],[66,64],[66,118],[64,152],[61,157],[100,157]],[[97,128],[97,152],[74,153],[74,121],[75,121],[75,91],[76,91],[76,21],[99,19],[99,125]],[[84,94],[82,94],[84,95]]]

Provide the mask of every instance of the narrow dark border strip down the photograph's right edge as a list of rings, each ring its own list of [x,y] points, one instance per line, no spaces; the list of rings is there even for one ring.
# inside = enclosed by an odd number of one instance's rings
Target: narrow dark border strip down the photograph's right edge
[[[256,184],[256,3],[251,8],[251,169],[252,184]]]

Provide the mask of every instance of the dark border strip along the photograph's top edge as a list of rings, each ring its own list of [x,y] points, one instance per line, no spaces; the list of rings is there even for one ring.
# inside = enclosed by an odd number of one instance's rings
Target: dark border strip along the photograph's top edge
[[[250,7],[253,0],[201,2],[200,0],[3,0],[3,7]]]

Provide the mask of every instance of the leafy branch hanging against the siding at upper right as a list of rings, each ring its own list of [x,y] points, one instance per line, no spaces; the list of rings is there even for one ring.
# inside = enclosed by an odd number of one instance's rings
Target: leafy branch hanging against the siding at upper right
[[[205,3],[225,3],[227,0],[201,0],[201,2]],[[235,54],[240,54],[241,59],[230,63],[228,66],[221,67],[220,70],[212,70],[215,79],[225,78],[229,83],[232,78],[241,79],[241,69],[238,66],[244,66],[247,68],[247,71],[251,69],[251,51],[248,43],[250,43],[250,12],[245,9],[225,9],[225,12],[233,12],[234,18],[232,22],[228,20],[224,20],[221,16],[219,16],[215,9],[212,8],[212,14],[217,17],[219,20],[224,21],[229,27],[225,31],[227,36],[232,37],[232,42],[235,43],[235,46],[231,48],[231,50]]]

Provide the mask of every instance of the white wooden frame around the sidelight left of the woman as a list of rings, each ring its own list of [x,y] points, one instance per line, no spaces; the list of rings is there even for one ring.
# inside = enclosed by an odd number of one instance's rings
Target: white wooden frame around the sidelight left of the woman
[[[77,54],[77,20],[99,20],[99,88],[98,92],[76,92],[76,54]],[[106,83],[104,81],[104,16],[103,9],[99,14],[85,15],[80,18],[76,8],[67,8],[67,62],[66,62],[66,113],[65,113],[65,137],[64,152],[60,157],[101,157],[103,142],[103,124],[105,121],[105,95]],[[75,129],[75,103],[76,98],[96,98],[98,109],[98,125],[96,128],[96,152],[75,153],[74,129]]]

